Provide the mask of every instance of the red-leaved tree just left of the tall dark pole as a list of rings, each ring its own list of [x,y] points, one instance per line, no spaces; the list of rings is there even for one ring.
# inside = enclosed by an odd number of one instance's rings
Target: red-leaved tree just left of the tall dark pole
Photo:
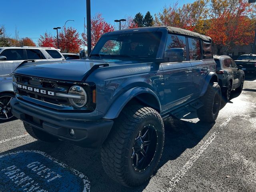
[[[78,53],[82,40],[79,38],[79,33],[75,28],[63,27],[59,33],[59,47],[62,52],[66,53]]]

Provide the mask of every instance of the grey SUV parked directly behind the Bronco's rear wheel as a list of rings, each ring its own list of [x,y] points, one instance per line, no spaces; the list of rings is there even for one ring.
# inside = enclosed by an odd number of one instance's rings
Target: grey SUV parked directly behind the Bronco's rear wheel
[[[242,92],[244,86],[244,71],[242,66],[237,66],[229,56],[214,56],[216,62],[216,73],[219,78],[219,85],[222,88],[222,95],[225,100],[230,100],[232,90]]]

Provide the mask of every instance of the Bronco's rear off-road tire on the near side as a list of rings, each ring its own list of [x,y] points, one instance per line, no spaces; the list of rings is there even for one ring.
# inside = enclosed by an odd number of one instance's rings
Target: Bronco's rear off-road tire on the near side
[[[197,110],[198,118],[201,121],[213,123],[218,117],[221,105],[221,90],[218,84],[210,84],[204,96],[204,106]]]

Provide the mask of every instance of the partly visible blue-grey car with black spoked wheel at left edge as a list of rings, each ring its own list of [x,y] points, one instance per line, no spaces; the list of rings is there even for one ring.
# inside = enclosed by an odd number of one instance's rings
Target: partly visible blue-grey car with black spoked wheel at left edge
[[[10,101],[14,98],[12,76],[0,76],[0,122],[14,118]]]

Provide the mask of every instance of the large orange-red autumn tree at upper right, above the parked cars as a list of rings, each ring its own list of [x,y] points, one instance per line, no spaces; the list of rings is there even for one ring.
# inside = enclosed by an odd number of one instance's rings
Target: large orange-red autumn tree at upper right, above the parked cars
[[[250,12],[250,7],[247,0],[238,0],[236,7],[226,6],[227,1],[212,0],[212,15],[210,27],[206,30],[206,35],[210,36],[217,46],[218,53],[220,51],[227,54],[228,50],[234,45],[248,45],[252,43],[254,38],[254,26],[247,14]],[[218,6],[216,6],[218,4]],[[216,10],[216,7],[219,10]]]

